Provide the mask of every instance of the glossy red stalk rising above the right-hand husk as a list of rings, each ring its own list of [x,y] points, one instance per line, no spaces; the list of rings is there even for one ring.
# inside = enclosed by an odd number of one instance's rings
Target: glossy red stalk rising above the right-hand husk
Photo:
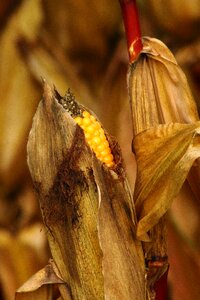
[[[129,61],[133,63],[142,50],[140,22],[136,0],[119,0],[124,21]]]

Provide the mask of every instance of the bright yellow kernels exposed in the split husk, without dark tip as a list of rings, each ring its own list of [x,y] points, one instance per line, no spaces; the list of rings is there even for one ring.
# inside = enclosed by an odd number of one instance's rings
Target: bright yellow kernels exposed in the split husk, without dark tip
[[[108,167],[112,167],[113,155],[101,124],[88,111],[84,111],[82,115],[83,118],[76,117],[74,120],[83,129],[85,138],[96,157]]]

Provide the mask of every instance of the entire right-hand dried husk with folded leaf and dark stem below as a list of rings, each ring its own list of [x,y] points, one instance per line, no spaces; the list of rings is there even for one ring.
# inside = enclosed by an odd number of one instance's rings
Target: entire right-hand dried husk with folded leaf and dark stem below
[[[148,286],[155,297],[153,286],[168,265],[165,213],[199,157],[199,117],[187,79],[170,50],[148,37],[143,38],[143,45],[140,57],[130,66],[128,87],[138,168],[134,194],[137,235],[146,241]],[[197,186],[198,182],[196,177]]]

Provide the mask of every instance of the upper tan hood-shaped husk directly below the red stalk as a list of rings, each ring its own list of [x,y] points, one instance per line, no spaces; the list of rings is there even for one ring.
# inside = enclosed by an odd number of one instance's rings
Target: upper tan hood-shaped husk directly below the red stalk
[[[157,124],[196,122],[195,101],[170,50],[154,38],[145,37],[143,43],[128,74],[134,136]]]

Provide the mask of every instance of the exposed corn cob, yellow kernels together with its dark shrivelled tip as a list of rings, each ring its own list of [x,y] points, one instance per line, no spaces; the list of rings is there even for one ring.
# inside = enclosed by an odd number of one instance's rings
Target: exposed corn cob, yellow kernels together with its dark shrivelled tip
[[[68,89],[67,94],[59,103],[74,118],[75,122],[83,129],[85,139],[96,157],[108,167],[114,166],[114,158],[105,132],[96,118],[88,111],[83,110],[76,102],[74,95]]]

